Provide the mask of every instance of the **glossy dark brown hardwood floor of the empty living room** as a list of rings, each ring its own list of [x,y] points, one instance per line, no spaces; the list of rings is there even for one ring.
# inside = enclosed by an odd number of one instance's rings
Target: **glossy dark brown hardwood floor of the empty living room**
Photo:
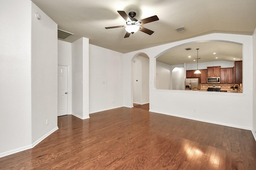
[[[59,129],[36,145],[0,158],[1,170],[256,170],[251,131],[121,107]]]

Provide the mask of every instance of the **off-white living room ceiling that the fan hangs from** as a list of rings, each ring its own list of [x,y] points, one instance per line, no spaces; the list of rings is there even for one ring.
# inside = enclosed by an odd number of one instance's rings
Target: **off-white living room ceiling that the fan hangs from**
[[[90,44],[120,53],[208,33],[252,35],[256,28],[256,0],[32,0],[32,2],[52,18],[59,29],[74,33],[66,39],[67,42],[86,37]],[[126,14],[134,11],[137,13],[134,18],[138,20],[157,15],[159,21],[143,25],[155,32],[148,35],[138,31],[124,38],[126,33],[124,27],[105,29],[105,27],[126,24],[118,14],[118,10],[123,10]],[[186,31],[175,30],[176,27],[183,25]],[[190,50],[191,55],[196,54],[196,48],[201,48],[198,53],[203,60],[204,46],[190,47],[193,48]],[[217,50],[222,51],[222,49],[212,49],[212,51]],[[230,51],[235,50],[230,49]],[[173,56],[175,57],[176,54],[174,53]]]

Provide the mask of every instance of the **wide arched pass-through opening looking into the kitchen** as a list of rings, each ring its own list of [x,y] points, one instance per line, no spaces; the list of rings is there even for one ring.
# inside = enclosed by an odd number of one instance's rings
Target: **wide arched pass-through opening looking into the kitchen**
[[[199,49],[199,55],[197,59],[197,50]],[[155,72],[155,89],[162,90],[184,90],[180,80],[184,81],[185,78],[193,78],[187,76],[187,72],[191,71],[194,73],[194,70],[203,70],[205,74],[198,75],[195,78],[200,78],[202,82],[198,89],[207,90],[209,86],[221,86],[224,90],[229,90],[235,84],[242,86],[242,66],[240,70],[235,69],[234,65],[236,63],[242,63],[242,44],[232,41],[221,41],[221,40],[210,40],[210,41],[194,41],[189,43],[184,43],[175,47],[171,47],[157,55],[156,65],[154,70]],[[197,65],[198,61],[198,65]],[[242,65],[242,64],[241,64]],[[232,68],[230,73],[230,80],[224,81],[227,78],[224,78],[222,74],[216,76],[219,77],[220,82],[218,84],[210,84],[207,82],[208,79],[208,68],[209,67],[219,67],[219,68]],[[184,68],[184,74],[180,74],[180,77],[173,77],[176,75],[173,72],[173,68]],[[238,68],[238,67],[236,67]],[[167,77],[167,72],[165,70],[170,70],[171,78]],[[223,70],[220,70],[224,74]],[[234,72],[234,73],[233,73]],[[240,74],[240,78],[238,74]],[[165,74],[164,74],[165,73]],[[169,75],[169,74],[168,74]],[[192,75],[194,76],[194,75]],[[236,77],[235,77],[236,76]],[[234,78],[233,78],[234,77]],[[232,79],[232,80],[231,80]],[[176,82],[174,82],[174,80]],[[238,81],[239,80],[239,81]],[[168,88],[167,84],[170,84]],[[242,92],[242,91],[241,91]]]

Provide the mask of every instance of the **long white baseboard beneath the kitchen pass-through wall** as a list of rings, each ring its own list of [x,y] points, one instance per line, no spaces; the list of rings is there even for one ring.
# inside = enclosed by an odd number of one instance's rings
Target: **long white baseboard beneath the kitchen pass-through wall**
[[[149,111],[150,111],[150,112],[154,112],[154,113],[160,113],[160,114],[175,116],[175,117],[181,117],[181,118],[185,118],[185,119],[191,119],[191,120],[196,120],[196,121],[202,121],[202,122],[206,122],[206,123],[213,123],[213,124],[216,124],[216,125],[223,125],[223,126],[235,127],[235,128],[239,128],[239,129],[252,130],[251,127],[246,127],[246,126],[233,125],[233,124],[222,123],[222,122],[217,122],[217,121],[209,121],[209,120],[205,120],[205,119],[197,119],[197,118],[194,118],[194,117],[188,117],[188,116],[182,116],[182,115],[175,115],[175,114],[166,113],[166,112],[160,112],[160,111],[156,111],[156,110],[149,110]]]

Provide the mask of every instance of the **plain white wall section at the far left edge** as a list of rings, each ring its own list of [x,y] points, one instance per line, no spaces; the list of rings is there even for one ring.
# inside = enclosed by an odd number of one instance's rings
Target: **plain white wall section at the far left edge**
[[[32,141],[31,4],[6,0],[0,5],[0,157]]]

